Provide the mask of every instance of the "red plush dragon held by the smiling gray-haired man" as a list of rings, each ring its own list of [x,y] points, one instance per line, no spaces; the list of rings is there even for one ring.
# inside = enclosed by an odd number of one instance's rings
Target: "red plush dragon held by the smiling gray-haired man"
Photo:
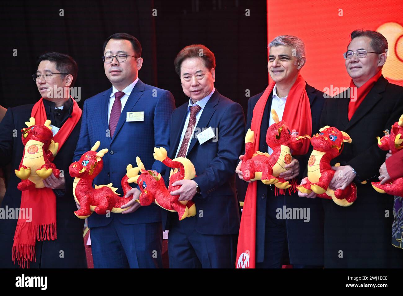
[[[294,135],[287,123],[278,119],[274,109],[271,110],[274,124],[266,132],[266,143],[273,153],[253,151],[254,132],[249,128],[245,136],[245,155],[242,159],[241,170],[245,181],[262,180],[264,184],[274,184],[277,188],[291,187],[288,181],[278,178],[286,164],[292,161],[291,149],[298,151],[302,147],[303,136]]]

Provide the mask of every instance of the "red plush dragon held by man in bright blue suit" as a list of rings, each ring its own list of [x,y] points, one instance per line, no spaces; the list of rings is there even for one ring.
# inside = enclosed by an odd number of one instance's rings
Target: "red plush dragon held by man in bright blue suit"
[[[92,187],[94,178],[102,171],[104,167],[102,157],[108,152],[108,149],[102,149],[98,152],[100,141],[97,141],[90,151],[85,152],[79,161],[73,162],[69,167],[70,176],[75,177],[73,181],[73,195],[75,201],[80,205],[80,209],[74,214],[80,219],[89,217],[95,211],[99,215],[105,215],[109,210],[112,213],[122,213],[126,209],[120,207],[128,203],[133,196],[125,198],[116,193],[117,188],[108,185],[95,185]],[[129,164],[126,168],[127,173],[123,176],[121,185],[123,193],[131,189],[129,178],[139,173],[138,168],[132,168]]]

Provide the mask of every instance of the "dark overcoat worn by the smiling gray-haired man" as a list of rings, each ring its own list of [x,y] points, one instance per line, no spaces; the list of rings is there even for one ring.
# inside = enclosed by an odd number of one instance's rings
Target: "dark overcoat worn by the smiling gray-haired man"
[[[325,103],[324,95],[310,85],[306,85],[305,90],[309,97],[312,114],[312,133],[319,132],[320,115]],[[262,93],[251,97],[248,101],[248,112],[246,120],[246,130],[251,126],[253,109],[262,96]],[[269,116],[272,104],[273,92],[270,93],[264,110],[262,124],[260,126],[259,150],[267,151],[266,132],[269,124]],[[312,135],[311,135],[312,136]],[[245,149],[245,148],[243,148]],[[307,167],[307,159],[312,151],[306,155],[294,155],[299,161],[299,176],[303,175]],[[301,178],[298,180],[300,183]],[[258,182],[257,189],[257,211],[256,211],[256,261],[263,262],[264,259],[264,236],[266,217],[266,201],[268,198],[276,198],[270,186]],[[290,260],[293,264],[301,265],[323,265],[323,207],[320,199],[306,199],[296,196],[286,195],[286,206],[291,208],[310,208],[310,223],[302,220],[287,219],[288,245],[291,249]],[[309,229],[308,229],[309,228]]]

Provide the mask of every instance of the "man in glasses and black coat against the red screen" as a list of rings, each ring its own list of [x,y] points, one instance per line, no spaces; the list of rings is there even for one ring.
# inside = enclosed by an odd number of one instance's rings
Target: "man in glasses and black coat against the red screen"
[[[357,185],[357,200],[340,207],[323,200],[325,212],[325,267],[388,268],[402,267],[403,253],[391,245],[393,197],[377,193],[371,181],[378,181],[378,170],[386,151],[378,148],[376,137],[388,130],[403,114],[403,87],[382,76],[388,42],[376,31],[355,30],[344,53],[350,89],[326,100],[320,126],[335,126],[347,132],[353,142],[331,161],[336,172],[330,188]],[[354,89],[355,88],[355,89]],[[304,182],[304,180],[302,181]],[[364,184],[363,184],[364,183]],[[299,193],[315,198],[315,193]]]

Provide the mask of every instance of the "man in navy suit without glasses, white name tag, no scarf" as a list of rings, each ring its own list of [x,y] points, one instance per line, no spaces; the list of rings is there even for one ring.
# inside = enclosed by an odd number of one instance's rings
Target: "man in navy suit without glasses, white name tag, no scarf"
[[[177,213],[163,211],[169,266],[233,268],[240,222],[234,171],[243,143],[243,110],[214,88],[216,61],[206,46],[183,48],[174,65],[189,101],[172,113],[168,156],[187,157],[196,177],[174,182],[181,188],[171,195],[192,200],[196,215],[179,221]]]

